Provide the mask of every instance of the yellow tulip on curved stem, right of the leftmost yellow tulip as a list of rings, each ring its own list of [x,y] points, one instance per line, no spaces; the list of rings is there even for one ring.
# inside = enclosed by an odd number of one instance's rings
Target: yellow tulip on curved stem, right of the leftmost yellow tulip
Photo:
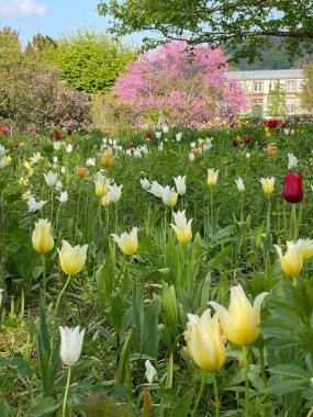
[[[60,268],[67,275],[75,275],[85,266],[88,245],[71,247],[68,241],[62,241],[62,248],[57,249]]]

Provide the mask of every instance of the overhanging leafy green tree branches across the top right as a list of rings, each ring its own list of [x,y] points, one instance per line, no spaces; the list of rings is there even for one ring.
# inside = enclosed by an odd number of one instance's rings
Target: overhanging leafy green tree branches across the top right
[[[234,60],[255,60],[271,36],[283,40],[290,57],[313,50],[312,0],[102,0],[98,11],[113,16],[111,32],[120,36],[150,31],[163,40],[223,45]],[[157,43],[146,38],[147,47]]]

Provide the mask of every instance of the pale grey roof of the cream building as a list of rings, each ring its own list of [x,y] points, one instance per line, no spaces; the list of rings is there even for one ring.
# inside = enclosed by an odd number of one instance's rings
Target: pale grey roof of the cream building
[[[228,71],[241,80],[303,79],[302,69],[260,69],[254,71]]]

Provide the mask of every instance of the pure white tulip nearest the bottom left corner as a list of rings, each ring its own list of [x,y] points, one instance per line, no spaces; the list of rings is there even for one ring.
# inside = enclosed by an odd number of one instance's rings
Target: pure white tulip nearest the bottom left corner
[[[75,329],[68,327],[59,327],[60,333],[60,359],[62,361],[71,367],[78,361],[85,336],[85,329],[79,331],[79,326]]]

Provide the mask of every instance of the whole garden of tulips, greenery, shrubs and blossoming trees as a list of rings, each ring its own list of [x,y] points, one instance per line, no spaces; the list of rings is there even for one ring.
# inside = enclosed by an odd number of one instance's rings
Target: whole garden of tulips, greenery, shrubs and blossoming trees
[[[99,4],[144,53],[0,31],[0,417],[313,416],[312,65],[249,117],[228,38],[147,2]]]

